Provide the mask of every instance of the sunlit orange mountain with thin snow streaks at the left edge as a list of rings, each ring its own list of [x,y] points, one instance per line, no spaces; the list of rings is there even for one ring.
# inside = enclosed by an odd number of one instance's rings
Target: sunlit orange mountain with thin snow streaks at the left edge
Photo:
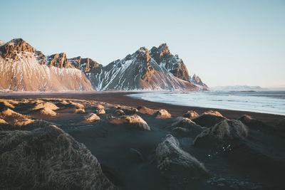
[[[65,53],[45,56],[21,38],[0,46],[0,90],[93,90]]]

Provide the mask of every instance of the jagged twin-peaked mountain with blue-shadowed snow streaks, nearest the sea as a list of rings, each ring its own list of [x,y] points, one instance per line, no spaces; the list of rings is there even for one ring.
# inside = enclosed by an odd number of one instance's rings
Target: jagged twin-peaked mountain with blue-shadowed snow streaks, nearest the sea
[[[78,65],[74,59],[71,63]],[[80,68],[95,90],[200,89],[191,83],[185,64],[177,55],[170,53],[166,43],[158,48],[153,47],[150,51],[142,47],[132,55],[115,60],[105,67],[95,64],[93,70],[90,70],[84,62],[79,65],[83,65]]]

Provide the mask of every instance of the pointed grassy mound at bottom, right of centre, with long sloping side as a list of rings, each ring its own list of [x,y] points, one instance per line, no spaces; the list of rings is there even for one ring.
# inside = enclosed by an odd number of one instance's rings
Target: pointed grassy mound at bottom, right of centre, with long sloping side
[[[170,184],[181,188],[181,184],[208,175],[204,164],[180,148],[178,140],[171,134],[158,144],[155,151],[157,169],[166,176]]]

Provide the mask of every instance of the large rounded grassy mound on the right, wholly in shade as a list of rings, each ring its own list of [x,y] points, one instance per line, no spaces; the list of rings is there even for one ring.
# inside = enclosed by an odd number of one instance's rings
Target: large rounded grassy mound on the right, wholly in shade
[[[199,134],[193,144],[205,147],[224,147],[235,140],[244,139],[248,128],[239,120],[224,120]]]

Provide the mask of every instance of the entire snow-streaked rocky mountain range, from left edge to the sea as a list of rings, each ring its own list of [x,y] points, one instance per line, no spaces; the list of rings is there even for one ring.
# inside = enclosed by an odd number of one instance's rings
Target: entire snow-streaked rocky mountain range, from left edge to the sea
[[[0,41],[0,90],[208,90],[191,78],[182,59],[166,43],[108,65],[90,58],[67,58],[66,53],[44,55],[21,38]]]

